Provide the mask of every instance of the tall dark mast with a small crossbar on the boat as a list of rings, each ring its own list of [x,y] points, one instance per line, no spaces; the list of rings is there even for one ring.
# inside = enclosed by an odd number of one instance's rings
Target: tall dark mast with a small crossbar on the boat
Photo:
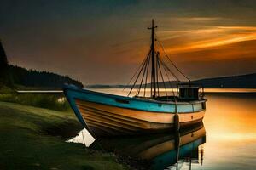
[[[148,27],[148,29],[151,30],[151,65],[152,65],[152,69],[151,69],[151,77],[153,78],[153,95],[151,93],[151,96],[153,98],[155,98],[156,96],[156,90],[155,90],[155,51],[154,51],[154,28],[157,28],[157,26],[154,26],[154,20],[152,19],[152,26]]]

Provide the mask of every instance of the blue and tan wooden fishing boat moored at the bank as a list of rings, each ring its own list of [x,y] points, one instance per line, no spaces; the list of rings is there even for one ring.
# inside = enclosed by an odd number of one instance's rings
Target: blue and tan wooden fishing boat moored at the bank
[[[151,46],[127,84],[130,88],[127,96],[64,85],[63,92],[79,122],[95,138],[161,133],[202,121],[207,101],[203,88],[193,84],[172,62],[154,33],[156,27],[152,20],[152,26],[148,27]],[[155,41],[164,55],[155,50]],[[187,80],[182,81],[173,70]],[[173,88],[171,77],[176,80],[177,88]],[[166,90],[170,87],[171,92]]]

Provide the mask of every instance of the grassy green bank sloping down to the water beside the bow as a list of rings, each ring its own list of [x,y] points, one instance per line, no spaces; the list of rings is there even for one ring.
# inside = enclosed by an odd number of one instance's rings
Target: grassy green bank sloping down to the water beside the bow
[[[0,102],[0,169],[125,169],[112,154],[65,142],[81,129],[72,111]]]

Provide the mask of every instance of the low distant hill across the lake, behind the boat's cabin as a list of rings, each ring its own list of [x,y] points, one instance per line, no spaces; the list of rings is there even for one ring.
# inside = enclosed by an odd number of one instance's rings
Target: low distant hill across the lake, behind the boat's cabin
[[[231,77],[213,77],[192,81],[201,84],[204,88],[256,88],[256,73],[231,76]],[[177,83],[182,82],[165,82],[166,88],[175,88]],[[164,88],[164,83],[159,82],[160,88]],[[150,87],[150,84],[147,85]],[[89,85],[85,88],[125,88],[125,85]],[[131,88],[126,86],[126,88]],[[138,85],[136,86],[138,88]]]

